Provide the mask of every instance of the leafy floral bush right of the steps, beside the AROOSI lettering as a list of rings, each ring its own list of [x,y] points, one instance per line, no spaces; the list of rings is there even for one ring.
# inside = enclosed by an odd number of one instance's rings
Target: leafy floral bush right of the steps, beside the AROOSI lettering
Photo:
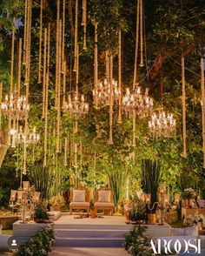
[[[131,255],[155,256],[150,245],[151,239],[146,234],[145,230],[145,226],[134,226],[130,233],[125,235],[125,250]]]

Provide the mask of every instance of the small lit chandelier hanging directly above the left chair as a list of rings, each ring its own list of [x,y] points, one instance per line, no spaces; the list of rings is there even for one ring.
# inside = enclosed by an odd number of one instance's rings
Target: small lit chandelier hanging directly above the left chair
[[[89,104],[85,102],[84,95],[69,93],[68,102],[65,104],[64,111],[75,115],[85,115],[89,111]]]

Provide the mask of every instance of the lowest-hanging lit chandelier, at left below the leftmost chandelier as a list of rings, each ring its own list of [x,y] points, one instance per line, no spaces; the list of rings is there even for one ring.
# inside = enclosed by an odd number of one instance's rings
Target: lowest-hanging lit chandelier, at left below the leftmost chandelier
[[[10,130],[10,135],[12,137],[11,147],[15,148],[17,144],[26,143],[26,145],[36,145],[40,140],[40,134],[36,133],[36,127],[31,131],[28,131],[25,135],[22,126],[20,126],[19,132],[15,129]]]

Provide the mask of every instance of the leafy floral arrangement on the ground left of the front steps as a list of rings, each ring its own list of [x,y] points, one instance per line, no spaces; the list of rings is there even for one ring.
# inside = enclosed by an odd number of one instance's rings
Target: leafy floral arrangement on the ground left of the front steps
[[[43,256],[49,255],[54,243],[53,226],[44,227],[42,231],[37,232],[25,245],[18,248],[17,256]]]

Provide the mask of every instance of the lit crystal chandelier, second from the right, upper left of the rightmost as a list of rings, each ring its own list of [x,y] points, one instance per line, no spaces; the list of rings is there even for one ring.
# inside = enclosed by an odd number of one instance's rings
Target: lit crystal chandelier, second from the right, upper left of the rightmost
[[[145,89],[142,94],[142,88],[136,85],[135,90],[130,91],[126,88],[126,93],[122,98],[122,111],[126,115],[132,115],[134,111],[140,117],[144,117],[145,114],[152,110],[153,99],[149,97],[149,88]]]

